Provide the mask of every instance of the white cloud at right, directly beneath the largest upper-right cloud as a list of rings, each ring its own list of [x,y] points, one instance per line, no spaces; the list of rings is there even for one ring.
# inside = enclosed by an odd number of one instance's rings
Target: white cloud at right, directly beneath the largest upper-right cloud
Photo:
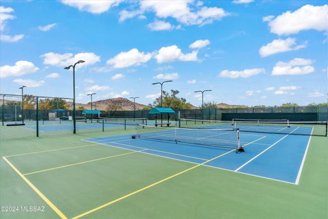
[[[303,49],[306,47],[306,42],[304,44],[296,44],[295,38],[287,38],[286,40],[277,39],[269,42],[265,46],[260,48],[260,55],[262,57],[267,57],[276,53],[284,53],[286,51],[295,51]]]

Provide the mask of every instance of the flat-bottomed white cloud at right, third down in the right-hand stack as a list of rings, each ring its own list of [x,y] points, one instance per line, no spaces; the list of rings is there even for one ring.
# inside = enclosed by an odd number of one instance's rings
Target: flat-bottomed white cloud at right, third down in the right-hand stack
[[[310,66],[312,60],[295,58],[289,62],[277,62],[273,67],[271,75],[306,75],[314,72],[314,67]]]

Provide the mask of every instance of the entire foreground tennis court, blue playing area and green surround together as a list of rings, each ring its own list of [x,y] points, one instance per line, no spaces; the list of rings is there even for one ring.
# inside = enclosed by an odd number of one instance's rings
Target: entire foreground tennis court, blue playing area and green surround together
[[[55,124],[44,127],[55,131],[65,125]],[[81,123],[89,125],[101,123]],[[313,135],[324,130],[322,124],[290,123],[283,131],[265,124],[282,133],[264,133],[263,127],[256,132],[259,125],[249,121],[238,129],[195,120],[181,120],[180,128],[154,127],[152,121],[126,130],[118,126],[1,141],[6,197],[1,205],[44,207],[3,217],[265,218],[269,211],[271,218],[324,218],[327,213],[322,191],[328,141]],[[3,126],[1,133],[31,130],[27,127]],[[245,152],[236,153],[238,147]]]

